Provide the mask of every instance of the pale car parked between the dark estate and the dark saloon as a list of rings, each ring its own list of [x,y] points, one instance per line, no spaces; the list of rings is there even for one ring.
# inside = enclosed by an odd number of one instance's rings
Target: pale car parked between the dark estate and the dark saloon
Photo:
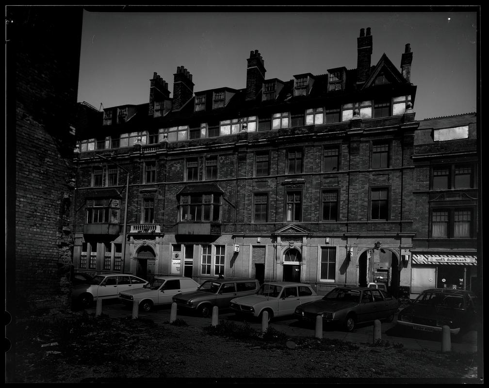
[[[322,296],[310,284],[291,281],[264,282],[256,294],[231,300],[230,307],[239,315],[262,317],[268,312],[268,322],[274,317],[293,315],[295,308],[306,302],[321,299]]]

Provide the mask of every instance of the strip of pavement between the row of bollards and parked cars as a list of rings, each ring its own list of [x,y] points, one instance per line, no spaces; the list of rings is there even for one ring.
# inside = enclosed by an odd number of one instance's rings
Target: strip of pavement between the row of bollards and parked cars
[[[95,306],[86,308],[86,311],[95,314]],[[170,306],[158,306],[152,311],[143,313],[138,312],[139,318],[147,318],[155,323],[162,324],[170,321]],[[132,318],[132,309],[123,306],[117,300],[106,300],[102,305],[102,314],[109,318]],[[189,326],[207,327],[212,324],[212,318],[202,318],[191,312],[177,312],[177,319],[184,320]],[[230,320],[237,324],[243,323],[234,313],[224,310],[219,314],[219,321]],[[442,350],[441,333],[418,333],[411,329],[396,325],[397,315],[392,323],[381,323],[381,340],[389,342],[391,345],[402,344],[405,349],[431,350],[440,352]],[[252,320],[249,322],[255,330],[261,330],[261,322]],[[314,337],[315,326],[300,324],[294,317],[276,318],[269,323],[269,326],[287,334],[290,337]],[[353,332],[340,331],[331,327],[323,327],[323,338],[331,338],[342,341],[360,344],[372,344],[374,338],[374,324],[363,323],[357,325]],[[468,331],[459,336],[451,337],[452,352],[476,353],[477,352],[477,331]]]

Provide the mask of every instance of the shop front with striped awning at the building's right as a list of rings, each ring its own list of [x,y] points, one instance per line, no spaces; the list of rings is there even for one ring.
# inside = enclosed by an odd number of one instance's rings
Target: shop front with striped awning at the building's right
[[[413,254],[411,293],[416,297],[427,288],[472,290],[477,276],[473,255]]]

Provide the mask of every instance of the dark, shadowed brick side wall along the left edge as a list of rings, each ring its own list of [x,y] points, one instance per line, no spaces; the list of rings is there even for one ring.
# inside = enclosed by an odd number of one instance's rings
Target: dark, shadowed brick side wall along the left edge
[[[7,305],[17,314],[70,306],[83,9],[65,7],[61,18],[60,12],[6,10]]]

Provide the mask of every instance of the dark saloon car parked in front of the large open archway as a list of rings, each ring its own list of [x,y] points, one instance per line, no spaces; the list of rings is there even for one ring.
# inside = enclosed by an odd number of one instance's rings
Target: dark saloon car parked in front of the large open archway
[[[343,325],[353,331],[357,323],[384,320],[392,322],[399,302],[379,289],[343,286],[333,288],[322,299],[300,304],[294,314],[299,320],[316,321],[321,315],[323,323]]]

